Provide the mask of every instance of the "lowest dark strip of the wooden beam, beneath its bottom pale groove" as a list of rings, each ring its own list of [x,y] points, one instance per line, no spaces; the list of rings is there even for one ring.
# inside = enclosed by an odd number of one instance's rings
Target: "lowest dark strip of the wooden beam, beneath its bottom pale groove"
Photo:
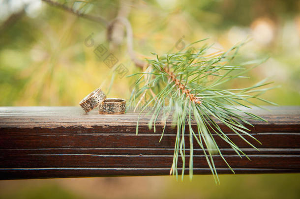
[[[300,169],[233,168],[236,174],[295,173]],[[188,174],[186,169],[185,174]],[[218,174],[232,174],[229,168],[217,168]],[[11,168],[0,169],[0,180],[65,177],[111,177],[169,175],[170,168]],[[194,168],[194,174],[211,174],[209,168]],[[179,169],[179,175],[181,169]]]

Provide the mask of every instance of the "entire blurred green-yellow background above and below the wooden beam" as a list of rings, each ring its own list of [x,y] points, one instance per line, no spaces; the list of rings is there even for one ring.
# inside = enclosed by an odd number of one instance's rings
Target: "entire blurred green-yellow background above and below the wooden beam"
[[[138,58],[164,54],[207,38],[213,49],[240,49],[243,60],[270,57],[249,72],[280,87],[263,97],[278,105],[300,105],[299,0],[53,0],[108,22],[122,16],[133,30]],[[128,99],[137,72],[119,26],[108,41],[103,23],[78,17],[41,0],[0,0],[0,106],[78,106],[101,86],[110,97]],[[111,36],[111,35],[110,35]],[[94,50],[104,46],[118,63],[108,67]],[[119,198],[300,198],[300,174],[210,175],[190,182],[172,176],[0,181],[0,199]]]

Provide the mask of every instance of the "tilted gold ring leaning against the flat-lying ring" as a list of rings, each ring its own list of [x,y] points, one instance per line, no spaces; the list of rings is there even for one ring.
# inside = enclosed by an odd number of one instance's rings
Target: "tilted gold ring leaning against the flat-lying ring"
[[[105,100],[105,98],[106,95],[100,88],[98,88],[91,92],[88,96],[83,98],[83,100],[80,101],[79,105],[86,113],[88,113],[95,107],[97,107],[103,100]]]

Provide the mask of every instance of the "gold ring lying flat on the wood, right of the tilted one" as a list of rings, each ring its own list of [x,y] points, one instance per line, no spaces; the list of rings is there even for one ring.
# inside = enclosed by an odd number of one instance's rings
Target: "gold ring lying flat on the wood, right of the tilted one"
[[[99,114],[124,114],[126,101],[119,98],[107,98],[99,105]]]

